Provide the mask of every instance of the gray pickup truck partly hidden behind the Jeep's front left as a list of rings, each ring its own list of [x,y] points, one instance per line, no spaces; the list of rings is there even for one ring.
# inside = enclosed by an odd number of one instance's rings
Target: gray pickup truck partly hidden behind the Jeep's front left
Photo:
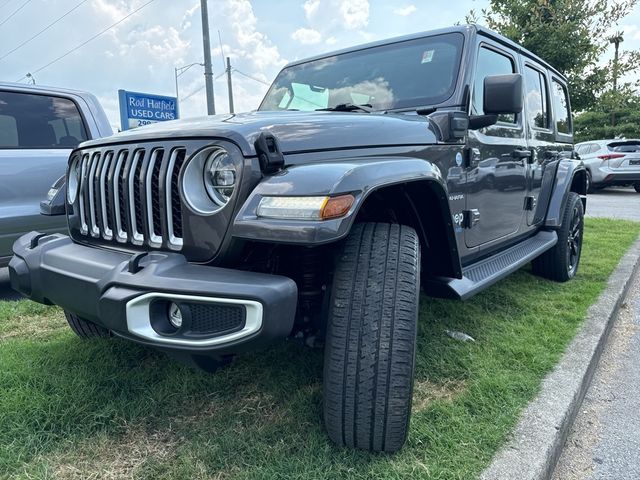
[[[71,150],[111,134],[93,95],[0,83],[0,267],[26,232],[67,231],[63,217],[40,215],[40,201],[64,175]]]

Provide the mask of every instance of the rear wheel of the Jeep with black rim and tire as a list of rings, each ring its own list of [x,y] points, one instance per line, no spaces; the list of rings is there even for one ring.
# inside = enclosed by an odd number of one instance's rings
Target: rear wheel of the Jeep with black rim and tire
[[[533,273],[556,282],[575,277],[580,264],[584,208],[580,195],[570,192],[558,230],[558,243],[533,261]]]

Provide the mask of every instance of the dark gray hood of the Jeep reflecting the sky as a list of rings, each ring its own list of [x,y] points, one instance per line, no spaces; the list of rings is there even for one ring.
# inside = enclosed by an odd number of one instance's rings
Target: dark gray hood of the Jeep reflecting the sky
[[[81,147],[177,138],[224,138],[254,156],[254,142],[271,133],[284,154],[359,147],[436,143],[431,122],[415,114],[356,112],[251,112],[174,120],[85,142]]]

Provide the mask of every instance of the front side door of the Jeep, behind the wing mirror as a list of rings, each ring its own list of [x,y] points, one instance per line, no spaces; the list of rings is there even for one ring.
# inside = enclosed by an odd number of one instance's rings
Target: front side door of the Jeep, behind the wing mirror
[[[478,50],[471,115],[483,115],[484,79],[516,73],[509,53],[489,45]],[[498,123],[469,131],[469,147],[476,155],[467,168],[466,208],[469,220],[465,243],[476,247],[506,239],[522,223],[526,195],[527,144],[522,115],[500,115]],[[472,150],[474,151],[474,150]]]

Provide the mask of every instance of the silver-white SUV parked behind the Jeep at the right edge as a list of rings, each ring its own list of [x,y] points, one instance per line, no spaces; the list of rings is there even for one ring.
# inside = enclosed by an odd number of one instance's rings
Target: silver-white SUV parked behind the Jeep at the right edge
[[[640,193],[640,140],[593,140],[576,144],[587,168],[589,190],[632,186]]]

